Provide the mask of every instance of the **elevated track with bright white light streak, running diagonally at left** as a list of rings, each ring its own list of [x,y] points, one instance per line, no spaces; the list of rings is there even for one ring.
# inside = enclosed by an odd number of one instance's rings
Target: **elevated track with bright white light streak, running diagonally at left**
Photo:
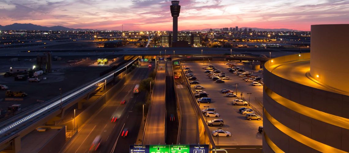
[[[0,124],[0,151],[12,146],[14,152],[21,149],[21,138],[27,135],[38,126],[47,123],[58,115],[64,116],[65,110],[75,105],[77,102],[99,89],[102,89],[106,83],[111,82],[117,74],[125,71],[138,58],[118,67],[116,70],[109,72],[89,83],[81,85],[67,93],[47,101],[39,107],[29,109],[17,114]]]

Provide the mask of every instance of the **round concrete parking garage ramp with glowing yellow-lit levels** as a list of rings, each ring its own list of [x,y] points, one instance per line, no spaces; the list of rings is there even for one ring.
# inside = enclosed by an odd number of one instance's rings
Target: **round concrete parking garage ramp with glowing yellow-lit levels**
[[[349,75],[343,28],[312,25],[311,53],[265,63],[263,152],[349,152],[349,81],[333,75]]]

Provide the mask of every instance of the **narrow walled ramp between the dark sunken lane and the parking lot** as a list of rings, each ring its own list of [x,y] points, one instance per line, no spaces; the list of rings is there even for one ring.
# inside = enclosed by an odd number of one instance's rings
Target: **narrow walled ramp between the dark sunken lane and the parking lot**
[[[195,114],[196,109],[191,104],[190,93],[185,85],[176,79],[177,94],[179,97],[180,108],[182,109],[183,119],[180,133],[180,144],[197,144],[198,143],[198,116]]]

